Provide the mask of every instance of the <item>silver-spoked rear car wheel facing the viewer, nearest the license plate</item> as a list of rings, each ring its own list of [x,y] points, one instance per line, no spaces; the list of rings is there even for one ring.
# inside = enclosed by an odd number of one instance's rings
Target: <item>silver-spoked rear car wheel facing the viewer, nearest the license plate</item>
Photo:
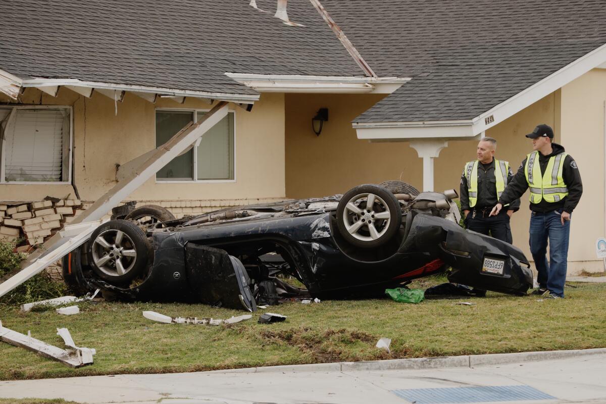
[[[359,185],[347,191],[337,207],[341,236],[362,248],[379,247],[396,234],[402,222],[398,199],[379,185]]]

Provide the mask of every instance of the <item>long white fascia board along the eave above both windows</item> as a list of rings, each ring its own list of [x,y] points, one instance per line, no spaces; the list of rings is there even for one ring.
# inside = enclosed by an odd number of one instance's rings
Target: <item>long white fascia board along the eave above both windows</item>
[[[70,85],[73,87],[100,88],[102,90],[138,91],[141,93],[155,93],[178,97],[217,99],[221,101],[239,102],[242,104],[254,104],[255,101],[259,101],[259,94],[210,93],[207,91],[178,90],[175,88],[148,87],[144,85],[80,81],[78,79],[27,79],[23,81],[22,87],[43,87],[48,85]]]

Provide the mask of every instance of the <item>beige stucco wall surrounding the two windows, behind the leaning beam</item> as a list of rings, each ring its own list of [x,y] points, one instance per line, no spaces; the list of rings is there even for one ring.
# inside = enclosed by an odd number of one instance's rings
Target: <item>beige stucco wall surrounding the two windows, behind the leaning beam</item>
[[[0,96],[0,103],[7,101]],[[21,102],[73,106],[74,175],[82,200],[95,200],[116,184],[116,165],[155,148],[155,108],[211,108],[199,99],[188,98],[185,104],[162,99],[151,104],[126,93],[116,115],[112,99],[99,93],[85,99],[67,88],[60,88],[56,98],[30,88],[21,95]],[[251,112],[233,104],[231,108],[236,113],[235,182],[162,184],[151,178],[128,199],[236,203],[284,198],[284,94],[264,94]],[[6,201],[70,193],[70,185],[0,185],[0,200]]]

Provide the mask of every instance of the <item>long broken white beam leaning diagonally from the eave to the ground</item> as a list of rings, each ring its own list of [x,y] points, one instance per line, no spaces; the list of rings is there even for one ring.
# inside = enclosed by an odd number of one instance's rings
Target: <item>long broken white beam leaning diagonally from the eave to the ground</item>
[[[124,179],[119,181],[111,190],[97,199],[87,210],[82,211],[79,216],[76,216],[76,219],[72,222],[72,226],[81,224],[85,221],[101,220],[108,211],[118,206],[122,200],[144,184],[145,181],[155,176],[158,170],[181,154],[182,151],[191,147],[198,137],[203,136],[218,124],[221,119],[227,116],[227,113],[228,103],[226,101],[218,102],[217,105],[208,111],[207,114],[204,114],[198,122],[187,125],[176,133],[175,136],[168,139],[165,144],[158,147],[154,150],[154,153],[150,154],[147,161],[143,162],[136,170],[133,170],[132,173],[128,174],[128,176],[125,176]],[[101,222],[99,222],[99,225],[100,224]],[[22,263],[23,269],[19,273],[16,273],[0,283],[0,297],[44,270],[50,263],[61,259],[65,254],[78,248],[88,240],[88,237],[93,233],[93,230],[94,228],[85,230],[83,233],[78,234],[78,236],[67,236],[69,238],[64,244],[59,243],[59,241],[62,240],[61,232],[50,237],[50,239],[41,245],[41,248],[30,254],[30,256],[24,260]]]

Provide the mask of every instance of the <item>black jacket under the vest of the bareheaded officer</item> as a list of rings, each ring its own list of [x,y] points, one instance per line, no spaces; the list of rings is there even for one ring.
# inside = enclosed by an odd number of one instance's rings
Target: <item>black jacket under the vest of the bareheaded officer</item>
[[[467,167],[467,165],[465,165]],[[513,178],[511,167],[507,172],[507,184]],[[465,168],[461,175],[461,187],[459,194],[461,195],[461,209],[470,210],[469,207],[469,190],[467,188],[467,177],[465,176]],[[490,164],[478,164],[478,200],[474,208],[492,208],[498,202],[496,194],[496,178],[494,177],[494,159]],[[507,210],[517,211],[520,208],[520,200],[516,199],[507,207]]]

